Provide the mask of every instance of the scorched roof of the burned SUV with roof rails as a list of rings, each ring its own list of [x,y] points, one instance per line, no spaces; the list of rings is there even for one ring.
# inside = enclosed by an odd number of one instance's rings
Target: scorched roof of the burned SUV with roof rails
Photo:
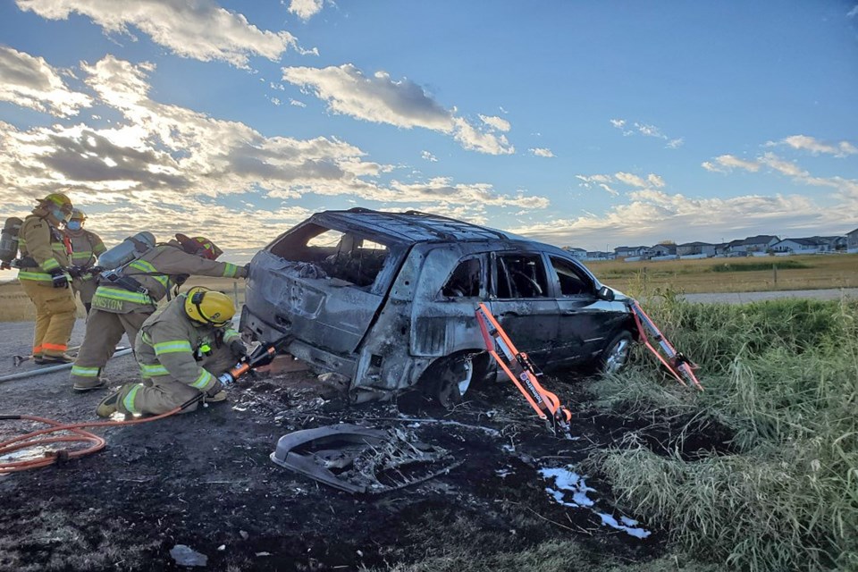
[[[498,231],[478,224],[466,223],[440,214],[405,211],[388,213],[368,208],[346,211],[324,211],[310,217],[310,222],[325,226],[348,226],[364,229],[396,242],[416,243],[438,240],[504,240],[536,242],[511,232]]]

